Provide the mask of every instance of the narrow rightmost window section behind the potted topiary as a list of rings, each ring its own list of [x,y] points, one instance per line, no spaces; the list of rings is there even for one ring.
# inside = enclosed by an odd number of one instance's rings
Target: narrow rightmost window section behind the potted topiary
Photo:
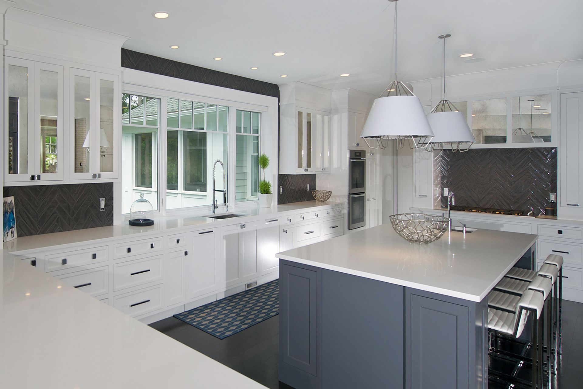
[[[235,201],[258,199],[261,114],[237,110]]]

